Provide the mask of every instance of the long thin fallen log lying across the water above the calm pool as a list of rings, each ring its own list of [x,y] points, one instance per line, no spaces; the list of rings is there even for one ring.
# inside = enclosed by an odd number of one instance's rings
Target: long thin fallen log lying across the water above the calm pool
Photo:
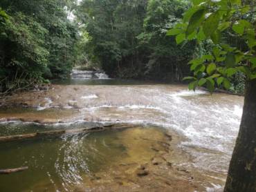
[[[111,131],[121,128],[134,128],[135,125],[130,124],[113,124],[107,126],[95,126],[93,128],[78,128],[78,129],[67,129],[67,130],[57,130],[57,131],[45,131],[38,133],[28,133],[24,135],[10,135],[0,137],[1,142],[13,142],[19,140],[27,140],[33,138],[41,138],[41,137],[57,137],[64,134],[80,134],[80,133],[93,133],[98,131]]]

